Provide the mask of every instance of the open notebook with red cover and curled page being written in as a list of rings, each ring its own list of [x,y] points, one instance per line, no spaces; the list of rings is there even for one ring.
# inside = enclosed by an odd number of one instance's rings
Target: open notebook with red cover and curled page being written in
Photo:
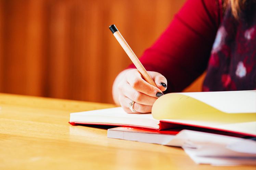
[[[186,125],[256,137],[256,90],[169,93],[156,100],[152,114],[129,114],[117,107],[71,113],[69,123],[155,130]]]

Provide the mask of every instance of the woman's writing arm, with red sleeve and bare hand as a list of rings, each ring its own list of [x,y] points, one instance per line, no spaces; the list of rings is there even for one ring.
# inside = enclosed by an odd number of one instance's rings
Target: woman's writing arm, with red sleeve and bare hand
[[[158,88],[143,81],[132,64],[113,84],[113,98],[125,111],[135,101],[137,112],[150,112],[161,91],[181,91],[206,69],[220,22],[215,0],[188,0],[140,61]]]

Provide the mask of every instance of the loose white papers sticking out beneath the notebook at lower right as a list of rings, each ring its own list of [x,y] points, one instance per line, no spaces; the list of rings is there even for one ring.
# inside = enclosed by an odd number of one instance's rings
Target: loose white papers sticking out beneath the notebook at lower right
[[[166,145],[181,146],[197,164],[256,165],[256,141],[182,130]]]

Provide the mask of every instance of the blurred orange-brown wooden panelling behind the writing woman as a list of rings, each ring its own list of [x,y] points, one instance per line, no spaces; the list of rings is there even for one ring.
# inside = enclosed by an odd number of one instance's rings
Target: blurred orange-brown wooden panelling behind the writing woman
[[[108,26],[140,56],[183,3],[0,0],[0,92],[113,103],[114,78],[130,61]]]

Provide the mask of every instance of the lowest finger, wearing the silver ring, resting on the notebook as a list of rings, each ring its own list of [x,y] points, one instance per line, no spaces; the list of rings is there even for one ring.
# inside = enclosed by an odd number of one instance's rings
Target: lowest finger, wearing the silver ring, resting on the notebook
[[[132,112],[129,109],[129,104],[131,102],[131,99],[129,99],[128,97],[122,95],[122,96],[119,96],[119,101],[120,101],[121,106],[123,107],[123,109],[127,113],[150,113],[151,109],[152,109],[152,106],[142,105],[142,104],[139,104],[139,103],[135,102],[133,104],[133,109],[136,112]]]

